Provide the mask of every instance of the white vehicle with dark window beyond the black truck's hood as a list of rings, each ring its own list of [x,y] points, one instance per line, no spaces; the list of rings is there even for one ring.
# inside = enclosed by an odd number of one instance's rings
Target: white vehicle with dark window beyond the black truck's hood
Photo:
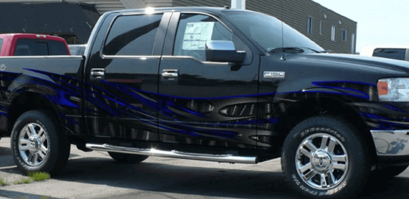
[[[360,55],[409,61],[409,45],[365,46]]]

